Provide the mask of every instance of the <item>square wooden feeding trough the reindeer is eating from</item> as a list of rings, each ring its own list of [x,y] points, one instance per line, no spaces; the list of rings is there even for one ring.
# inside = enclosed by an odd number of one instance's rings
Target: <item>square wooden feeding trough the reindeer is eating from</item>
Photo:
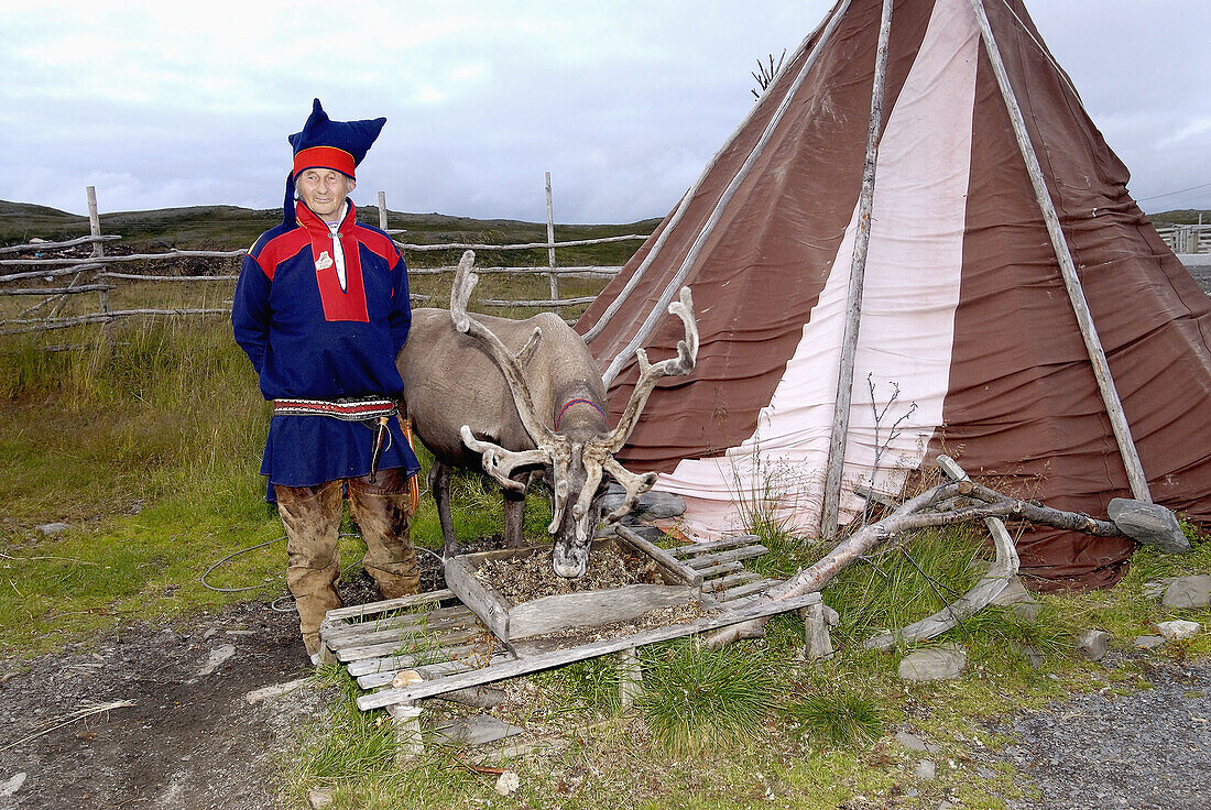
[[[446,563],[446,585],[500,640],[512,643],[564,630],[613,625],[638,619],[660,608],[684,605],[702,598],[702,574],[643,538],[627,533],[595,540],[595,559],[615,556],[630,559],[645,573],[636,581],[596,590],[510,598],[484,576],[500,563],[533,563],[550,568],[551,546],[529,546],[463,555]],[[495,563],[495,565],[494,565]],[[533,568],[533,565],[530,565]],[[553,576],[553,575],[551,575]]]

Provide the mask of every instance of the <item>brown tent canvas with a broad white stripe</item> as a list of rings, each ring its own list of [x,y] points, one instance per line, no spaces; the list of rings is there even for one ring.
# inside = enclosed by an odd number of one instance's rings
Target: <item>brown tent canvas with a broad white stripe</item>
[[[880,6],[838,2],[578,322],[616,419],[635,349],[673,352],[681,324],[665,306],[693,291],[698,367],[653,393],[619,458],[659,471],[695,534],[742,530],[767,495],[777,518],[820,530]],[[942,452],[1001,490],[1098,516],[1132,496],[1136,453],[1153,500],[1211,518],[1211,305],[1129,196],[1022,2],[899,0],[884,85],[840,521],[861,509],[855,484],[900,494]],[[1018,550],[1044,585],[1089,587],[1115,581],[1132,546],[1046,532]]]

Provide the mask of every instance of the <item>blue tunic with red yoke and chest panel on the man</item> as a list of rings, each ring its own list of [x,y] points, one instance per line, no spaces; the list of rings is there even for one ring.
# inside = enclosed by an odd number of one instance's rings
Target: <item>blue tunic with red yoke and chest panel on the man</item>
[[[243,258],[231,306],[236,343],[266,400],[400,400],[395,357],[408,339],[408,272],[391,239],[357,222],[335,235],[302,202],[298,223],[265,231]],[[342,288],[332,257],[340,240]],[[374,429],[320,415],[274,415],[260,473],[272,484],[312,487],[371,470]],[[397,419],[379,467],[420,470]]]

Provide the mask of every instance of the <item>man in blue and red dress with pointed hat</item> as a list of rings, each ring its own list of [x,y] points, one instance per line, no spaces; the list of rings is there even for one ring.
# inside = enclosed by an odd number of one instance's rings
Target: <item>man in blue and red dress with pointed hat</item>
[[[408,536],[408,478],[420,465],[395,410],[395,357],[412,323],[407,268],[386,234],[357,222],[348,196],[384,123],[332,121],[315,99],[289,137],[282,224],[245,257],[231,308],[235,339],[274,402],[260,472],[286,525],[286,580],[312,662],[320,622],[340,607],[343,490],[381,594],[420,585]]]

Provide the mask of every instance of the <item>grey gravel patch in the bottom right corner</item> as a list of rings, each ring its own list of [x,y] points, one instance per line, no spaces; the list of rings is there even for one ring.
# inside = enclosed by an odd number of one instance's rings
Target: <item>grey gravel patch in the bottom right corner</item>
[[[1153,684],[1091,694],[993,726],[1032,797],[1011,810],[1211,809],[1211,666],[1146,667]]]

